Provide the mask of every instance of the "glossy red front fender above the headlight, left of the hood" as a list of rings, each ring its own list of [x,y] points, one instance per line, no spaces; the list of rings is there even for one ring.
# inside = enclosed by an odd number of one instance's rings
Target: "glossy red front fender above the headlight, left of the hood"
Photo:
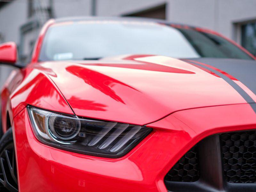
[[[35,68],[25,68],[10,76],[12,76],[11,80],[6,81],[1,93],[4,132],[7,130],[7,113],[12,122],[27,105],[74,114],[57,86],[44,72]]]

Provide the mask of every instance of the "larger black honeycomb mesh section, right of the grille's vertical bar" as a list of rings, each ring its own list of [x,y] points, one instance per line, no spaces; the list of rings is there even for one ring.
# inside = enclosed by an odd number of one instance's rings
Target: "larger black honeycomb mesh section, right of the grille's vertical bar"
[[[224,176],[231,183],[256,183],[256,131],[220,134]]]

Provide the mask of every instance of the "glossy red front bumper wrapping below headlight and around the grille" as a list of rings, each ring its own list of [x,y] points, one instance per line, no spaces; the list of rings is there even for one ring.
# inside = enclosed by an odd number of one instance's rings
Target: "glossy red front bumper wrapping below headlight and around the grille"
[[[167,191],[164,176],[191,147],[220,132],[256,127],[249,104],[195,108],[147,126],[154,129],[121,158],[76,154],[40,143],[24,108],[13,120],[20,191]]]

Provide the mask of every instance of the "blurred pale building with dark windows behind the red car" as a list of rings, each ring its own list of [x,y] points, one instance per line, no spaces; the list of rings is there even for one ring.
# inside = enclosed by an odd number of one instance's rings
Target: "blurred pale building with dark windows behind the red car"
[[[26,61],[50,18],[139,16],[209,28],[256,54],[256,0],[0,0],[0,43],[15,41]],[[0,67],[0,87],[11,68]]]

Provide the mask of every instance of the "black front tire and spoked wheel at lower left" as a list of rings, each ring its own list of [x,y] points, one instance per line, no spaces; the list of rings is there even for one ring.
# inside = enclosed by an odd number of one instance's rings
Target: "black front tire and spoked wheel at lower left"
[[[0,140],[0,190],[18,192],[16,157],[12,128]]]

